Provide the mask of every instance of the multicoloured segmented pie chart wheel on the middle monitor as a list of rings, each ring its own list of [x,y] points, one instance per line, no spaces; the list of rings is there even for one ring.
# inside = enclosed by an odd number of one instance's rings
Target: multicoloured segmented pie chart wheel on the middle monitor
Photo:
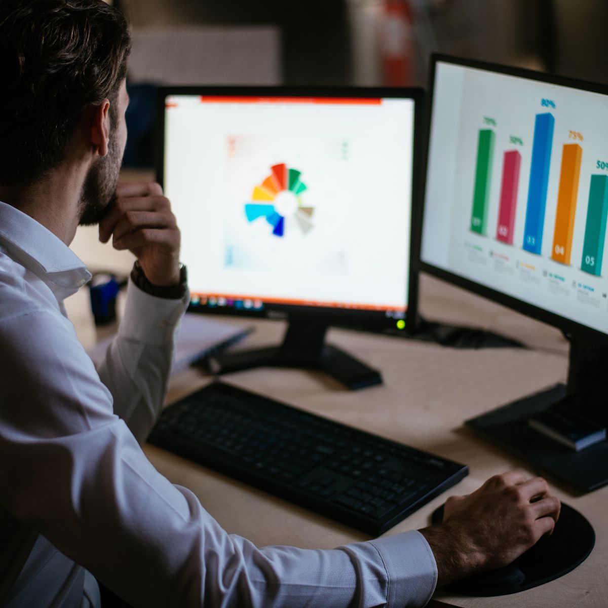
[[[303,234],[313,229],[314,207],[306,207],[302,193],[306,184],[300,179],[301,171],[285,163],[271,167],[272,173],[254,188],[252,202],[245,204],[245,215],[252,222],[266,218],[275,237],[285,235],[286,223],[293,222]]]

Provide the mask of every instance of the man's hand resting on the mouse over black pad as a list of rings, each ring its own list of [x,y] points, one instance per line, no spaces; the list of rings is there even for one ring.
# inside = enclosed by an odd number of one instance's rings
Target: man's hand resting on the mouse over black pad
[[[446,500],[443,522],[420,532],[435,555],[438,586],[510,564],[551,534],[561,503],[542,477],[521,471],[490,477],[467,496]]]

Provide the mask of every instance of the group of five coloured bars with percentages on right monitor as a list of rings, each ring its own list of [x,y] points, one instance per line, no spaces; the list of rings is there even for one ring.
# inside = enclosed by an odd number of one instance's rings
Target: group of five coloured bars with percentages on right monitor
[[[477,131],[475,150],[475,175],[472,187],[472,206],[469,229],[482,236],[494,234],[501,243],[520,246],[523,250],[537,255],[547,256],[564,266],[572,266],[580,260],[579,269],[596,277],[601,276],[603,252],[606,245],[606,228],[608,224],[608,174],[587,174],[589,179],[589,199],[587,201],[586,220],[582,225],[582,216],[577,210],[582,204],[579,200],[581,190],[581,167],[584,157],[584,137],[578,131],[565,130],[556,123],[554,116],[555,103],[543,99],[542,105],[553,109],[553,112],[539,112],[534,115],[534,130],[531,133],[531,153],[528,153],[529,176],[527,197],[521,196],[520,175],[522,174],[523,140],[511,136],[504,150],[499,150],[501,141],[507,141],[504,134],[500,139],[497,134],[497,121],[485,117],[483,128]],[[559,137],[558,133],[559,128]],[[563,143],[564,137],[567,138]],[[559,141],[559,138],[562,141]],[[556,155],[561,151],[561,165]],[[553,159],[553,160],[552,160]],[[493,168],[498,173],[492,174]],[[500,173],[497,171],[500,170]],[[608,171],[608,162],[597,161],[596,168]],[[558,171],[556,171],[556,169]],[[497,200],[492,200],[492,180],[500,184]],[[550,197],[550,179],[556,184],[555,195]],[[519,211],[523,216],[523,237],[516,241],[516,222],[519,198],[525,199],[525,209]],[[492,216],[491,207],[497,206]],[[548,215],[548,206],[551,215]],[[524,213],[525,212],[525,213]],[[554,223],[547,226],[547,221]],[[497,217],[496,229],[489,227],[489,218]],[[551,234],[545,234],[552,228]],[[584,230],[582,258],[580,244],[578,253],[573,258],[575,230]],[[520,233],[521,234],[521,233]],[[579,237],[580,238],[580,237]],[[552,244],[550,254],[544,249],[544,241]],[[545,254],[543,251],[545,250]]]

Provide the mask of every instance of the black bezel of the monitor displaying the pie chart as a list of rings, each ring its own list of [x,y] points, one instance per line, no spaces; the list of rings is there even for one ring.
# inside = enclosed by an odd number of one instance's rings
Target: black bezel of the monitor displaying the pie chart
[[[359,97],[359,98],[404,98],[414,104],[413,144],[412,144],[412,202],[410,217],[409,247],[409,286],[408,301],[405,313],[406,326],[403,333],[412,333],[415,329],[418,312],[418,272],[417,258],[420,250],[420,192],[421,161],[424,141],[424,89],[355,87],[355,86],[161,86],[157,91],[156,108],[156,179],[164,187],[164,140],[165,140],[165,99],[168,95],[209,95],[226,97]],[[221,314],[239,317],[261,317],[283,319],[294,314],[306,314],[322,318],[329,325],[356,325],[363,328],[394,328],[396,319],[385,317],[381,311],[367,311],[350,308],[329,308],[323,306],[288,305],[281,303],[264,303],[264,309],[234,309],[223,307],[188,306],[188,311],[203,314]]]

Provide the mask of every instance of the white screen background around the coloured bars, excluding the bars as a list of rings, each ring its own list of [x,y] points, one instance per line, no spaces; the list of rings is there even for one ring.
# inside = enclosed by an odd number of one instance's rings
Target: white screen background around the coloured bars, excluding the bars
[[[542,105],[550,100],[553,106]],[[581,270],[590,178],[608,163],[608,97],[588,91],[437,64],[430,132],[422,259],[567,319],[608,333],[608,253],[595,276]],[[554,116],[541,255],[523,249],[536,114]],[[492,117],[496,126],[484,119]],[[486,235],[470,230],[480,129],[495,131]],[[570,131],[584,140],[573,138]],[[513,145],[511,136],[522,140]],[[578,143],[582,160],[572,257],[551,258],[564,144]],[[496,239],[503,153],[521,154],[513,245]],[[607,165],[608,166],[608,165]]]

